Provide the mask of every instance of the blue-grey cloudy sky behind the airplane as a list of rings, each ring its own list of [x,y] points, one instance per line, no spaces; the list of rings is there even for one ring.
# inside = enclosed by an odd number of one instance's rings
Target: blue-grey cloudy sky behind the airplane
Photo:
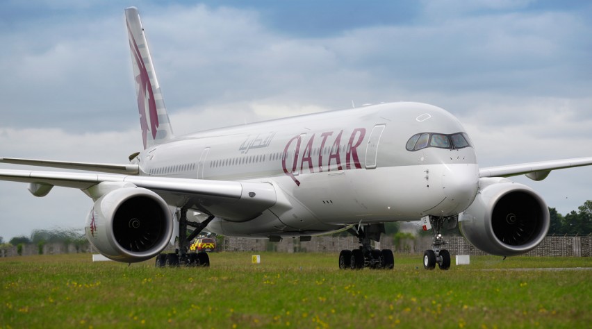
[[[592,156],[590,1],[14,0],[0,2],[0,157],[122,163],[141,149],[127,6],[176,135],[421,101],[463,122],[482,167]],[[515,180],[562,214],[592,199],[592,167]],[[0,182],[0,236],[81,228],[91,207],[79,190]]]

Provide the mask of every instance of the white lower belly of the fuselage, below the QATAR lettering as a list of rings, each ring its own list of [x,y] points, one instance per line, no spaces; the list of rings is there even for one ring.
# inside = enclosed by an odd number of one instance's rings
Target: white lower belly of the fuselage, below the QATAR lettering
[[[214,221],[226,235],[314,235],[352,223],[418,221],[428,214],[450,216],[475,197],[474,182],[457,182],[456,172],[475,172],[476,165],[404,166],[302,174],[300,185],[288,177],[273,178],[278,203],[244,223]],[[474,175],[467,175],[473,177]],[[475,176],[476,177],[476,176]],[[460,194],[451,193],[469,186]]]

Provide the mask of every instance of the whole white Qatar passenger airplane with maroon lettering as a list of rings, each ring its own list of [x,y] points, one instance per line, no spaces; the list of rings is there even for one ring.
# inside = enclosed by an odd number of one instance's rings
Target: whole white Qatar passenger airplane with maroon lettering
[[[138,9],[126,8],[125,17],[143,150],[123,164],[0,158],[68,169],[1,169],[0,180],[28,183],[34,196],[54,186],[81,189],[94,201],[85,235],[111,260],[209,266],[206,253],[188,250],[202,231],[277,242],[347,230],[359,248],[340,252],[340,269],[393,269],[393,252],[372,241],[379,242],[384,223],[422,221],[433,235],[424,267],[445,270],[445,228],[458,225],[492,255],[520,255],[543,241],[545,201],[509,177],[543,180],[555,169],[592,165],[589,157],[479,168],[461,122],[414,102],[175,136]],[[178,251],[162,253],[176,238]]]

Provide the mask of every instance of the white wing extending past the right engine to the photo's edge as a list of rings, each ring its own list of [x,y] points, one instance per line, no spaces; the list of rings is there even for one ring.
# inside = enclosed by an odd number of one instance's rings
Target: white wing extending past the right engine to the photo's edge
[[[526,175],[533,180],[543,180],[552,170],[592,165],[591,158],[576,158],[529,162],[519,165],[507,165],[479,169],[479,177],[511,177]]]

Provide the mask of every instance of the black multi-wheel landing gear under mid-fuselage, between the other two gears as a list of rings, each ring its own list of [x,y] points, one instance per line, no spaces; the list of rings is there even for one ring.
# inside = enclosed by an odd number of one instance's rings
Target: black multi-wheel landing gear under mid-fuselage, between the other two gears
[[[350,228],[348,233],[358,237],[360,247],[354,250],[342,250],[339,253],[340,269],[393,269],[395,258],[389,249],[373,249],[370,240],[380,241],[380,234],[384,233],[384,224],[368,224],[358,226],[357,230]]]

